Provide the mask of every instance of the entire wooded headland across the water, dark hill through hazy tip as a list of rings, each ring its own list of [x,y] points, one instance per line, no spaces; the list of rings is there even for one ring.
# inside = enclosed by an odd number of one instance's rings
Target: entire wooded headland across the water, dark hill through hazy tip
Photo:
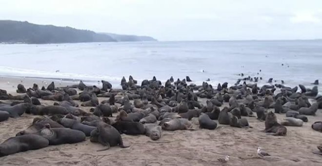
[[[0,43],[73,43],[155,41],[151,37],[95,33],[71,27],[38,25],[27,21],[0,20]]]

